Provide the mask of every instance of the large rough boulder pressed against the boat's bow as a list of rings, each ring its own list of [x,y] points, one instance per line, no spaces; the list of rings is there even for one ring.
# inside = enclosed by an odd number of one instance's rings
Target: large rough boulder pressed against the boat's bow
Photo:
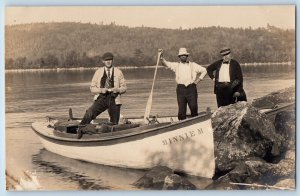
[[[212,115],[216,174],[234,169],[249,157],[275,157],[283,151],[283,137],[265,114],[250,103],[220,107]]]

